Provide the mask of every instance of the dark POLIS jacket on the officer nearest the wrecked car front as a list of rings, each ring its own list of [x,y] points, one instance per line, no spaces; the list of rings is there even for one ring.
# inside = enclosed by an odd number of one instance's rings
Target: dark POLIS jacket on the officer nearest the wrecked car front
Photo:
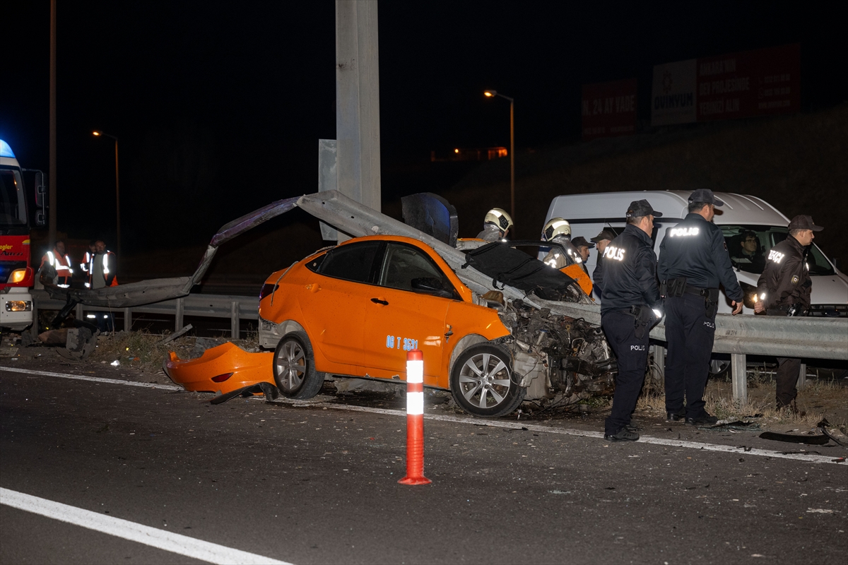
[[[601,314],[631,306],[661,308],[660,290],[656,284],[656,253],[648,234],[628,224],[622,234],[606,246],[601,262],[604,269],[600,280]]]

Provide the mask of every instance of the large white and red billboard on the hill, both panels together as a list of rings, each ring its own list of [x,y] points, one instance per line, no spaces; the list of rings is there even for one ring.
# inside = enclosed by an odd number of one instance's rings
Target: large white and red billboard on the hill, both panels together
[[[651,125],[801,110],[801,46],[757,49],[654,67]]]

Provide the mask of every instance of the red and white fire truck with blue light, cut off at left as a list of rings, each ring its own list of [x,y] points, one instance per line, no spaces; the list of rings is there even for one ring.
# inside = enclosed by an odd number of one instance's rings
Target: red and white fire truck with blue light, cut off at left
[[[21,169],[12,147],[0,140],[0,328],[24,330],[32,324],[35,280],[30,255],[30,214],[24,173],[34,173],[36,225],[44,225],[44,174]],[[28,175],[29,176],[29,175]]]

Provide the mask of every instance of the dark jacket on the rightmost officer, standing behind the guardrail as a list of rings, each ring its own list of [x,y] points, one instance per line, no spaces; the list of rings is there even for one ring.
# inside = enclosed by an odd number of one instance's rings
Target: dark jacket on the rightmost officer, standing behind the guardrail
[[[806,252],[807,248],[791,235],[768,252],[766,269],[756,281],[756,293],[767,310],[795,303],[810,307],[812,280]]]

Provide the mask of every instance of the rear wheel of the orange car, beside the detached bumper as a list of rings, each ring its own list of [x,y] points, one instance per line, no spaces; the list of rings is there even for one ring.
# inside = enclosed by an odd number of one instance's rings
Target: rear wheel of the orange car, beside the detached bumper
[[[303,331],[293,331],[282,336],[274,351],[274,382],[282,396],[312,398],[324,379],[315,371],[315,354],[310,338]]]

